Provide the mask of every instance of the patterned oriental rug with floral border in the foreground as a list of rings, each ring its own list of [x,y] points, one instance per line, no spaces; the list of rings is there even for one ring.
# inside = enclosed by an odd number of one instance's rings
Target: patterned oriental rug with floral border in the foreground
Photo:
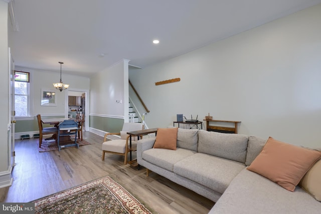
[[[152,213],[109,176],[31,202],[35,213]]]

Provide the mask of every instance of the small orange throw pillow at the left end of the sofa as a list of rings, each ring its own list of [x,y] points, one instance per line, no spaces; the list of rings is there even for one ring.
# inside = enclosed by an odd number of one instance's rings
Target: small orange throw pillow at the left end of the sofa
[[[153,148],[176,150],[177,128],[158,128]]]

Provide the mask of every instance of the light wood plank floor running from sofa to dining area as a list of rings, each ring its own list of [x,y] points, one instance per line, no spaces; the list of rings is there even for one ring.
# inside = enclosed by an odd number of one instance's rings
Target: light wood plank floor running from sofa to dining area
[[[16,141],[14,183],[4,202],[29,202],[100,178],[112,177],[155,213],[208,213],[214,202],[154,172],[123,164],[123,156],[101,160],[103,137],[84,132],[91,145],[38,152],[39,139]]]

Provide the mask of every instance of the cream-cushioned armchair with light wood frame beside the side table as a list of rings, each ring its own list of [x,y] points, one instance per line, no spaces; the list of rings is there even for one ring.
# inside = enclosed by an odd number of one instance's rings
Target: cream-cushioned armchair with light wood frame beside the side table
[[[124,164],[127,164],[127,154],[130,151],[128,148],[129,135],[128,131],[138,131],[143,129],[142,123],[124,123],[122,130],[119,133],[107,133],[104,136],[104,142],[102,143],[102,160],[105,159],[105,153],[117,154],[125,156]],[[120,139],[106,140],[108,135],[120,135]],[[131,139],[132,147],[137,145],[137,137]]]

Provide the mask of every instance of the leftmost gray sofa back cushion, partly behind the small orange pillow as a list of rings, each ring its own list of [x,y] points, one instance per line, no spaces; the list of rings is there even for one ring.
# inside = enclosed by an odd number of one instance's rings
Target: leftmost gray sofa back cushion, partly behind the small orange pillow
[[[182,129],[177,132],[177,147],[197,151],[199,135],[198,129]]]

